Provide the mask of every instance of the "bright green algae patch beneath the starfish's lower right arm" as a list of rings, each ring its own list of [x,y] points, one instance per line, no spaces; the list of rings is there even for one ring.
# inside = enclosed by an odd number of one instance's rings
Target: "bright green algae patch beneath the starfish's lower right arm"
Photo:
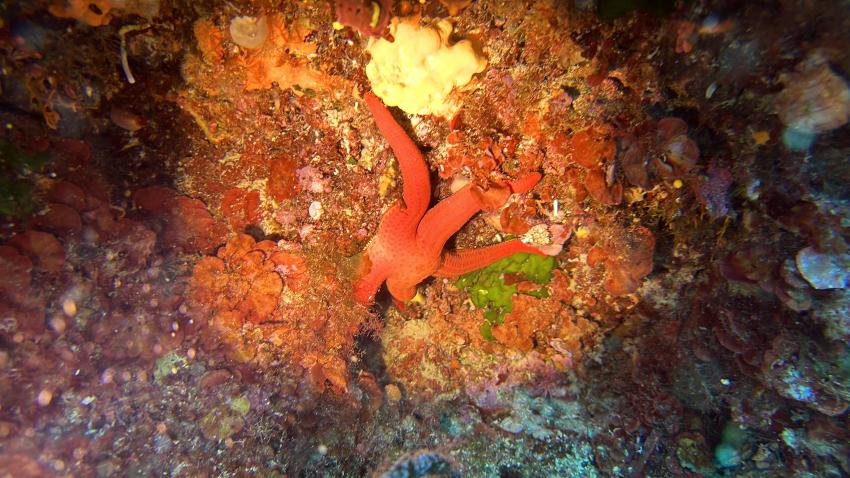
[[[522,252],[460,276],[455,286],[466,291],[476,307],[484,309],[481,335],[487,340],[494,340],[492,327],[504,322],[505,314],[513,310],[514,294],[538,298],[549,296],[546,287],[523,287],[519,290],[519,284],[531,282],[545,286],[552,279],[554,268],[554,257]]]

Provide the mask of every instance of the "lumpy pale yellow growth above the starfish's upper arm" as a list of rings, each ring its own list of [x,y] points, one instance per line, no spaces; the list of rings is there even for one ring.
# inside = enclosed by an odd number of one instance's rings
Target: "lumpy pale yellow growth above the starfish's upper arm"
[[[453,88],[469,83],[484,71],[487,60],[478,55],[469,40],[449,45],[452,25],[443,20],[436,27],[393,18],[390,32],[369,44],[372,61],[366,76],[372,91],[388,106],[410,114],[450,117],[459,105],[449,99]]]

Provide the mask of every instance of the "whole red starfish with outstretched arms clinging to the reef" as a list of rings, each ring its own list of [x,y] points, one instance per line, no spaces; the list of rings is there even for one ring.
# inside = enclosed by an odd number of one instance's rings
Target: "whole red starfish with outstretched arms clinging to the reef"
[[[357,302],[370,304],[384,281],[396,303],[404,303],[416,295],[416,285],[429,276],[465,274],[517,252],[542,255],[518,239],[443,254],[446,241],[478,211],[487,205],[501,206],[511,193],[529,191],[540,174],[532,173],[507,187],[486,192],[468,184],[429,210],[431,182],[425,158],[381,100],[367,93],[366,104],[398,159],[404,185],[402,201],[384,214],[378,234],[366,248],[365,267],[354,284]]]

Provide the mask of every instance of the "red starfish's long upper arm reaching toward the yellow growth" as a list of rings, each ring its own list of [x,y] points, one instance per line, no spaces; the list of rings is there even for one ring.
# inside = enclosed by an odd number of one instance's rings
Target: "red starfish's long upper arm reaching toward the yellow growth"
[[[412,219],[418,221],[431,202],[431,179],[425,158],[384,103],[371,92],[366,93],[365,98],[378,130],[390,143],[401,169],[401,179],[404,181],[402,197],[407,212]]]

